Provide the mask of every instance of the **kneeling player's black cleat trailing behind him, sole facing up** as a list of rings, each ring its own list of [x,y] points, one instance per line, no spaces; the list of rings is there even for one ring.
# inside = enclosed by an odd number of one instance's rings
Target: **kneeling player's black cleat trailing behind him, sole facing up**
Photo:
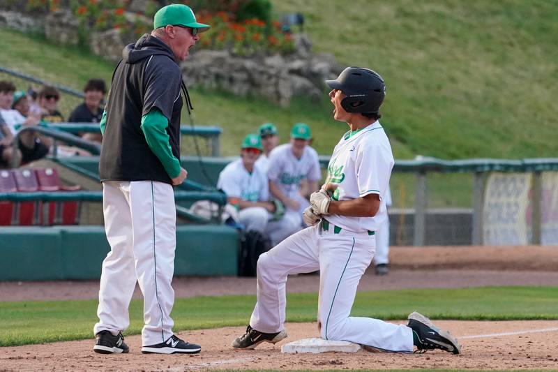
[[[453,352],[453,354],[459,354],[461,352],[461,346],[457,338],[451,336],[448,331],[439,329],[432,324],[430,319],[416,311],[409,315],[409,323],[407,326],[413,330],[414,334],[416,334],[416,338],[418,338],[418,345],[416,345],[418,352],[434,349]]]

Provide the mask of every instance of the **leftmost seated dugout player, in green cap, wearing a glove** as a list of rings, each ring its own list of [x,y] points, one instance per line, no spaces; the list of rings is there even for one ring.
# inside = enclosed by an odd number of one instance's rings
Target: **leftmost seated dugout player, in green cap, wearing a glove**
[[[239,211],[239,222],[246,231],[255,230],[269,236],[272,244],[284,239],[294,226],[283,218],[284,207],[269,198],[267,177],[255,163],[262,155],[259,135],[247,135],[241,146],[241,157],[219,174],[217,187],[225,191],[229,204]]]

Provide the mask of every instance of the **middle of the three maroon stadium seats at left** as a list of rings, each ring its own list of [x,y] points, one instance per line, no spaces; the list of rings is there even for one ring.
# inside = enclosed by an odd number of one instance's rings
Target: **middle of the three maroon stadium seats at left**
[[[32,193],[38,191],[39,186],[33,170],[13,169],[10,172],[13,174],[18,192]],[[43,219],[40,216],[42,202],[20,202],[17,206],[19,211],[18,225],[29,226],[41,223]]]

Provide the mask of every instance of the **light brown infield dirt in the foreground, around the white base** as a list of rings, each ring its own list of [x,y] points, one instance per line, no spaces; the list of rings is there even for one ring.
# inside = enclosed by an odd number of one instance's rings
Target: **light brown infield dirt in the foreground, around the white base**
[[[273,346],[234,350],[229,346],[241,327],[227,327],[179,336],[202,345],[198,355],[142,355],[140,336],[129,336],[128,355],[99,355],[93,341],[0,348],[0,370],[13,371],[188,371],[199,369],[558,369],[558,321],[456,322],[438,321],[462,338],[461,355],[432,351],[425,354],[387,354],[361,350],[282,354],[280,345],[318,336],[315,323],[287,324],[289,337]],[[541,331],[554,329],[553,331]],[[533,333],[513,334],[531,331]],[[539,332],[534,332],[539,331]],[[496,336],[494,334],[506,333]]]

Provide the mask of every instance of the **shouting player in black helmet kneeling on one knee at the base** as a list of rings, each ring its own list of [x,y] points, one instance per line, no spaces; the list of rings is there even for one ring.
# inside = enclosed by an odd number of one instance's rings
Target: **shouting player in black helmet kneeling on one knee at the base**
[[[349,316],[356,287],[375,254],[375,232],[386,219],[384,195],[393,155],[379,124],[384,80],[368,68],[349,67],[327,80],[333,117],[345,121],[343,135],[328,166],[326,184],[310,197],[304,211],[309,228],[288,237],[257,263],[257,302],[246,334],[233,348],[277,343],[285,331],[285,284],[289,274],[319,270],[318,327],[322,338],[342,340],[389,352],[441,349],[459,354],[449,332],[419,313],[407,325]]]

